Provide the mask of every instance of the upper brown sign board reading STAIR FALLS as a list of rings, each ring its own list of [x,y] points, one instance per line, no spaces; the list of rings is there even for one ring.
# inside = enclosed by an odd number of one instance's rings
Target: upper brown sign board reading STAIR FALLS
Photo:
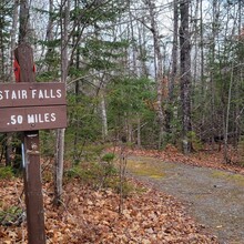
[[[0,108],[55,104],[67,104],[64,83],[0,83]]]

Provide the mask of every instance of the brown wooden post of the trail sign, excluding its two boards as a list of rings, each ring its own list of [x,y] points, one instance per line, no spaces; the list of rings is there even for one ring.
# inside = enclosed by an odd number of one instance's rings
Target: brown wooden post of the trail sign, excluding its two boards
[[[35,82],[33,51],[28,43],[14,50],[20,65],[20,82]],[[45,244],[44,211],[41,184],[39,131],[23,133],[23,177],[29,244]]]

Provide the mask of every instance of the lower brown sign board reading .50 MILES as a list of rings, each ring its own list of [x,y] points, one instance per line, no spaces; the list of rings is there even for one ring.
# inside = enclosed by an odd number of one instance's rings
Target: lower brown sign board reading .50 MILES
[[[0,108],[0,131],[34,131],[67,126],[67,106]]]

